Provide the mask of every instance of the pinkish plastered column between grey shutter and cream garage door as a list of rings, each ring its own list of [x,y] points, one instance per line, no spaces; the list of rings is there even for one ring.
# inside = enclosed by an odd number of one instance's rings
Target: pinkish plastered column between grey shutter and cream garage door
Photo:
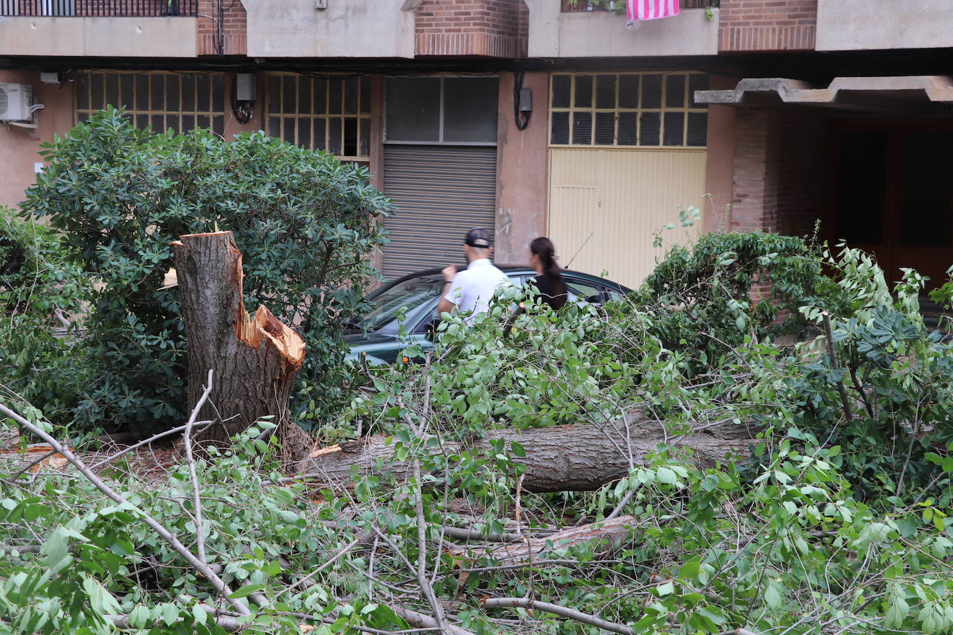
[[[501,264],[525,264],[530,241],[546,234],[549,73],[523,76],[523,88],[533,91],[533,116],[524,130],[514,119],[513,82],[513,73],[500,73],[494,259]]]

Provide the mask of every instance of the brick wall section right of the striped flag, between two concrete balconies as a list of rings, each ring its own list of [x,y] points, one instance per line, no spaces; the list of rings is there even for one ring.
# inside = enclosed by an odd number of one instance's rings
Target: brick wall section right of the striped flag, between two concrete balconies
[[[721,0],[719,50],[814,50],[818,0]]]

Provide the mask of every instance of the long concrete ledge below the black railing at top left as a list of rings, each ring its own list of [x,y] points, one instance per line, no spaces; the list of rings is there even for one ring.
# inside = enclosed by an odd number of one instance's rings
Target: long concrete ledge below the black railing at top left
[[[0,17],[0,55],[195,57],[196,18]]]

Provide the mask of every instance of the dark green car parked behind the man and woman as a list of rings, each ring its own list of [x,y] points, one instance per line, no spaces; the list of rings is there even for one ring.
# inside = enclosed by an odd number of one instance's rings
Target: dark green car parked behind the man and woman
[[[536,276],[536,271],[528,267],[504,265],[499,268],[520,286]],[[632,290],[569,269],[563,269],[562,278],[570,302],[602,304]],[[352,324],[353,329],[345,338],[351,346],[348,359],[359,360],[366,355],[372,366],[393,364],[405,348],[414,344],[422,350],[433,347],[428,330],[436,323],[436,303],[442,288],[443,275],[440,269],[434,268],[405,275],[376,289],[368,296],[374,308]],[[399,319],[401,311],[402,320]]]

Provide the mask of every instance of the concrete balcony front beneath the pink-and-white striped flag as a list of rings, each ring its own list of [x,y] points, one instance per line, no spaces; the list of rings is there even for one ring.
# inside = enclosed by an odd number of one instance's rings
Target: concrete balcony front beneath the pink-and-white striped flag
[[[608,11],[560,10],[558,0],[526,0],[530,57],[654,57],[718,54],[719,10],[703,9],[646,20],[625,28],[625,16]]]

